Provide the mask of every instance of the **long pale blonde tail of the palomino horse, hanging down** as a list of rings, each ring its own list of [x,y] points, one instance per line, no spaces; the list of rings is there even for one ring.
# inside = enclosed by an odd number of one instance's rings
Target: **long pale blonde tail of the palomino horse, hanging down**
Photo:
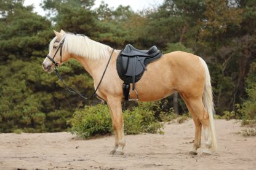
[[[215,132],[215,124],[214,124],[214,100],[212,96],[212,85],[210,84],[210,73],[207,67],[207,64],[202,58],[200,58],[202,65],[204,66],[204,72],[206,74],[206,79],[204,80],[204,94],[202,96],[202,101],[204,102],[204,107],[206,108],[209,119],[210,119],[210,135],[212,138],[212,151],[217,149],[217,139],[216,139],[216,132]]]

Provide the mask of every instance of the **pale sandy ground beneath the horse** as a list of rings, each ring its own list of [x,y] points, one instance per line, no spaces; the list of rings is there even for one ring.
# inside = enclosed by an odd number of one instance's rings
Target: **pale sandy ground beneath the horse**
[[[256,137],[235,120],[216,121],[218,150],[188,155],[193,121],[166,125],[165,134],[126,136],[125,154],[108,155],[114,137],[81,140],[70,133],[0,134],[0,169],[256,169]]]

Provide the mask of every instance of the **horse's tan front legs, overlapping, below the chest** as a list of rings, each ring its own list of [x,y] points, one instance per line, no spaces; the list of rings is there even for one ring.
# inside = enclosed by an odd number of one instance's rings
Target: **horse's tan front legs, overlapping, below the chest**
[[[124,121],[122,119],[122,99],[115,97],[108,97],[107,103],[110,108],[112,125],[114,129],[115,135],[115,145],[114,149],[111,150],[110,154],[114,155],[124,155],[122,151],[124,146],[126,145],[126,141],[124,139]]]

